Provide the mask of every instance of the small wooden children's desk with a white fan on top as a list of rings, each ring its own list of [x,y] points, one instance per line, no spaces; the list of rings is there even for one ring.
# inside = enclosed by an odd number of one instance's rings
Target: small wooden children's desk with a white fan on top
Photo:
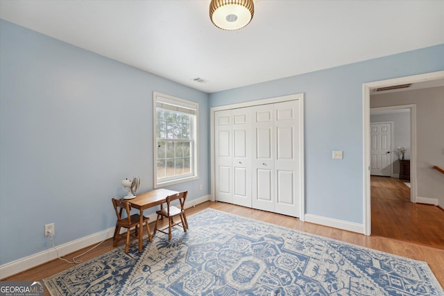
[[[129,204],[131,204],[131,207],[135,209],[139,209],[140,211],[140,225],[139,225],[139,252],[142,252],[142,243],[143,240],[141,239],[144,232],[144,223],[143,223],[143,217],[144,217],[144,210],[155,207],[159,204],[163,204],[166,202],[167,196],[177,194],[178,191],[173,191],[169,189],[154,189],[152,191],[148,191],[146,193],[140,193],[137,194],[135,198],[132,200],[125,200]],[[150,242],[153,241],[153,238],[151,237],[151,229],[148,226],[148,238]]]

